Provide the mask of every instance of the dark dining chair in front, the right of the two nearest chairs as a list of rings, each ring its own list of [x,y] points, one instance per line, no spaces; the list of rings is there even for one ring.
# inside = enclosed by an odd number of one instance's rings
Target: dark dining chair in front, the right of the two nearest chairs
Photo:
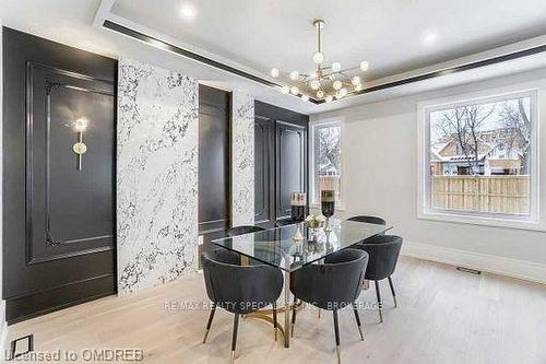
[[[358,332],[360,339],[364,340],[360,317],[355,302],[360,294],[363,272],[367,263],[368,255],[365,251],[344,249],[327,257],[322,265],[309,265],[292,273],[290,291],[294,294],[292,327],[294,328],[296,324],[297,300],[310,303],[320,309],[331,310],[334,320],[335,350],[340,363],[340,327],[337,324],[340,309],[353,306]]]

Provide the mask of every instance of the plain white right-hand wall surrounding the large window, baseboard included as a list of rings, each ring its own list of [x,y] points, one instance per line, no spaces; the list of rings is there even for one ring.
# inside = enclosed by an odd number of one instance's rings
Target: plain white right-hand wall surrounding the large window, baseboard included
[[[404,251],[434,260],[546,282],[546,233],[417,219],[417,103],[489,87],[541,85],[546,130],[546,69],[313,115],[342,117],[345,211],[377,214],[405,238]],[[541,132],[542,222],[546,220],[546,138]],[[541,275],[542,274],[542,275]]]

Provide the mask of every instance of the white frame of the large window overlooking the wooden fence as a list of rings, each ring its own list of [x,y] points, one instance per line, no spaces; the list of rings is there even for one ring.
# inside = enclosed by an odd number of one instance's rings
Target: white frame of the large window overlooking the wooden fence
[[[499,102],[517,97],[530,97],[532,118],[531,129],[531,169],[530,169],[530,215],[517,216],[472,211],[437,210],[430,207],[430,120],[431,111],[456,107],[460,105],[475,104],[476,102]],[[418,116],[418,191],[417,191],[417,219],[448,221],[475,225],[501,226],[524,230],[546,231],[544,222],[539,219],[539,103],[538,90],[530,87],[503,87],[484,90],[476,93],[430,99],[417,104]]]

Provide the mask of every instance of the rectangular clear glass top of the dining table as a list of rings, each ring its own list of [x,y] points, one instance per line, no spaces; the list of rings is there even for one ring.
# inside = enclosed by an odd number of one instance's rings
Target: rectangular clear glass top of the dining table
[[[260,262],[292,272],[334,251],[347,248],[392,228],[392,226],[337,219],[330,219],[330,225],[332,231],[327,233],[323,227],[311,231],[301,224],[299,227],[304,236],[301,240],[294,239],[298,224],[293,224],[257,233],[224,237],[212,240],[212,243]]]

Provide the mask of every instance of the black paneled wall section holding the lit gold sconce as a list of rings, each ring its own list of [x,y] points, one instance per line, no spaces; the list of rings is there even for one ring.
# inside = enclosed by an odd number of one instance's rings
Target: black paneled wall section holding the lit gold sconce
[[[13,322],[116,292],[117,63],[12,30],[3,37],[3,297]]]

